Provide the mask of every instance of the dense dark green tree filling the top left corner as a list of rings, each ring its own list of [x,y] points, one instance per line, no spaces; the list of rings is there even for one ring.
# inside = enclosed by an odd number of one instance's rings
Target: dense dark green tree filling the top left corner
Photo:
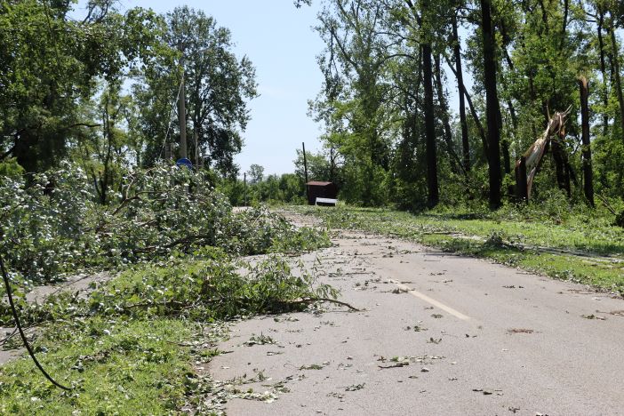
[[[147,59],[158,33],[153,12],[124,15],[112,1],[90,1],[82,21],[69,17],[73,2],[0,4],[0,140],[3,158],[27,172],[67,155],[78,130],[78,103],[90,98],[98,77],[115,79]]]

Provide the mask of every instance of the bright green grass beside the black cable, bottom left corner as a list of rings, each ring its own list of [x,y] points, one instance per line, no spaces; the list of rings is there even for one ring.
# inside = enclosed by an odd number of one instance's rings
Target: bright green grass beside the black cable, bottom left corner
[[[191,372],[188,348],[180,342],[193,331],[171,319],[53,324],[36,341],[38,357],[52,377],[74,389],[54,388],[25,356],[0,367],[0,413],[173,412],[184,403]]]

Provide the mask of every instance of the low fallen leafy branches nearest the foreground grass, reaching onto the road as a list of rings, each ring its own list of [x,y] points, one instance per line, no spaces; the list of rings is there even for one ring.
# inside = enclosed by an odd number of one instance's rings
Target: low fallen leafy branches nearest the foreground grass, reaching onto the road
[[[277,313],[306,308],[296,300],[317,293],[337,294],[320,285],[304,270],[294,276],[286,260],[276,255],[251,263],[234,260],[219,249],[196,252],[195,260],[173,259],[133,267],[93,290],[88,297],[61,293],[43,305],[23,305],[25,324],[57,319],[185,318],[212,322],[236,316]],[[321,291],[321,292],[317,292]],[[3,324],[11,322],[2,308]]]

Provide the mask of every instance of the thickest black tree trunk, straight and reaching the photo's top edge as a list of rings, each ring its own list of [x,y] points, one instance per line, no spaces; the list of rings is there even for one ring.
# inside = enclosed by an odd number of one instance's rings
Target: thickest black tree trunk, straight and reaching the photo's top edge
[[[490,206],[500,207],[500,130],[499,97],[496,89],[496,57],[494,54],[494,34],[490,0],[481,0],[481,29],[484,43],[484,87],[487,114],[487,137],[490,157],[488,157],[490,176]]]

